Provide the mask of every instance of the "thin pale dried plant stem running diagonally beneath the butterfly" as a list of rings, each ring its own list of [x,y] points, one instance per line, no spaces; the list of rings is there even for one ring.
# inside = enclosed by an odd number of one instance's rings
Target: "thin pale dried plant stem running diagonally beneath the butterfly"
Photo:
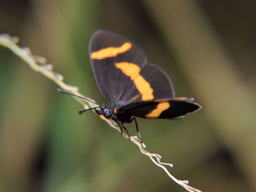
[[[8,34],[0,35],[0,45],[12,50],[12,52],[15,53],[15,55],[18,55],[20,58],[23,59],[23,61],[25,61],[27,64],[29,64],[29,66],[32,69],[34,69],[34,71],[45,75],[50,80],[53,80],[53,82],[56,82],[56,84],[58,84],[65,91],[69,91],[70,93],[76,94],[78,96],[83,96],[82,94],[80,94],[78,92],[77,87],[65,84],[63,82],[64,77],[61,74],[54,72],[53,66],[51,64],[47,64],[47,61],[45,58],[43,58],[41,56],[32,55],[32,53],[28,47],[19,47],[17,45],[17,43],[18,43],[17,37],[10,37]],[[83,97],[85,97],[85,96],[83,96]],[[85,98],[89,99],[88,97],[85,97]],[[78,97],[74,97],[74,99],[77,100],[80,104],[83,104],[83,107],[85,107],[85,108],[87,108],[88,106],[89,107],[98,107],[99,106],[99,105],[93,104],[91,102],[87,103],[85,100],[80,99]],[[93,101],[93,99],[90,99],[90,100]],[[102,118],[102,116],[100,116],[100,117]],[[111,127],[116,128],[116,130],[120,132],[120,128],[113,120],[107,120],[105,118],[102,118],[102,119],[107,121],[107,123]],[[123,134],[123,137],[125,137],[127,139],[129,138],[128,135],[125,133]],[[131,142],[135,143],[135,145],[138,145],[141,153],[143,153],[144,155],[147,155],[151,159],[151,161],[153,161],[154,164],[161,167],[173,181],[178,183],[178,185],[181,185],[187,191],[190,191],[190,192],[200,192],[200,190],[189,186],[188,185],[189,182],[187,180],[178,180],[178,179],[176,179],[176,177],[173,177],[173,175],[170,174],[170,172],[167,170],[167,166],[173,167],[173,164],[163,163],[161,161],[160,155],[158,155],[156,153],[149,153],[148,151],[146,151],[144,149],[143,144],[140,142],[140,139],[138,139],[137,136],[132,136],[130,138],[130,140],[131,140]]]

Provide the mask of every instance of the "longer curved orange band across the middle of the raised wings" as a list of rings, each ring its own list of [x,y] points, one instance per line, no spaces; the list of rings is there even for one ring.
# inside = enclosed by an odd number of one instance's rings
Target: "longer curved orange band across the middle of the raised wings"
[[[153,89],[151,88],[151,85],[140,75],[140,67],[138,65],[128,62],[116,63],[115,65],[116,68],[121,69],[121,71],[130,77],[135,83],[143,101],[154,99]]]

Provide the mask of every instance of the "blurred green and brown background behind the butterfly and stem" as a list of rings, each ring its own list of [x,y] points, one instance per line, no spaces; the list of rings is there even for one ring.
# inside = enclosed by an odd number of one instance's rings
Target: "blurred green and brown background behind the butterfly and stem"
[[[202,191],[256,191],[256,1],[1,1],[0,33],[48,58],[101,104],[89,62],[97,28],[122,34],[203,110],[138,119],[146,150]],[[138,147],[0,47],[0,191],[185,191]],[[135,125],[129,124],[135,134]]]

